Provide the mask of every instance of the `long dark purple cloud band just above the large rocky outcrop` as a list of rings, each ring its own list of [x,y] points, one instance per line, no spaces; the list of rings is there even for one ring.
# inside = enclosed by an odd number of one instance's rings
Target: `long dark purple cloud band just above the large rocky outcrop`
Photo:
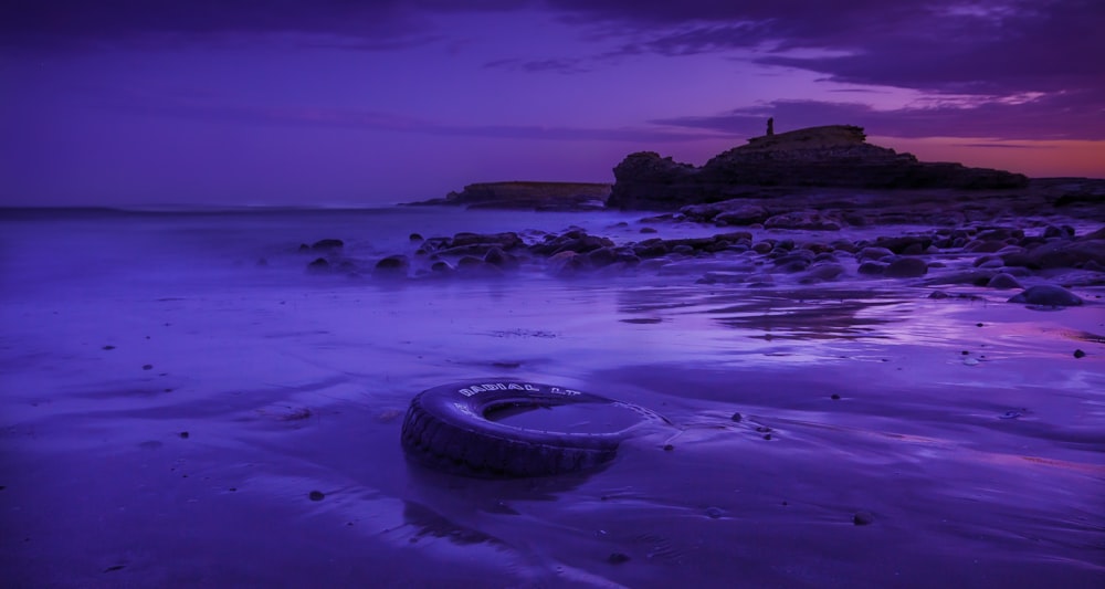
[[[892,111],[857,103],[777,101],[713,116],[653,123],[746,137],[761,135],[767,118],[775,117],[779,132],[839,123],[859,125],[871,135],[894,137],[1105,140],[1105,116],[1101,105],[1093,108],[1093,103],[1092,96],[1075,93],[1024,102],[951,103]]]

